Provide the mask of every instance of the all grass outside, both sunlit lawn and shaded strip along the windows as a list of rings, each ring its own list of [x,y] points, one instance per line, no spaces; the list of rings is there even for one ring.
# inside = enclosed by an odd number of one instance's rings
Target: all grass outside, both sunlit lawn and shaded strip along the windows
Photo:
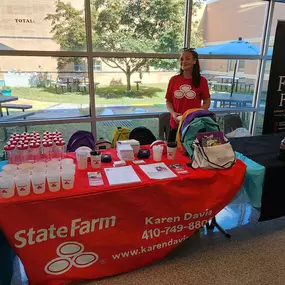
[[[147,86],[141,85],[139,91],[126,92],[125,86],[100,86],[96,90],[96,104],[138,104],[138,105],[155,105],[165,102],[165,89],[167,84],[149,84]],[[133,87],[135,90],[135,87]],[[44,88],[12,88],[12,95],[18,96],[22,103],[33,104],[38,109],[46,109],[50,104],[57,103],[74,103],[74,104],[88,104],[89,95],[83,92],[66,92],[64,94],[57,94],[55,90]],[[265,94],[266,95],[266,94]],[[21,101],[20,101],[21,102]],[[98,107],[100,109],[100,107]],[[97,108],[97,111],[99,110]],[[82,114],[85,115],[85,110],[82,110]],[[89,114],[89,112],[87,111]],[[145,126],[149,128],[155,136],[158,136],[158,120],[157,119],[136,119],[131,120],[132,125]],[[244,126],[248,128],[248,120],[245,120]],[[221,129],[223,128],[223,119],[219,119]],[[262,130],[263,116],[260,115],[257,118],[256,134],[260,134]],[[77,124],[61,124],[61,125],[42,125],[28,127],[28,132],[37,131],[55,131],[62,132],[64,138],[68,140],[70,136],[76,130],[89,130],[89,123],[77,123]],[[103,122],[97,123],[97,135],[98,137],[105,137],[112,139],[113,133],[116,130],[116,125],[108,126]],[[11,127],[8,128],[9,135],[13,132],[23,132],[23,127]],[[0,138],[3,138],[3,128],[0,128]],[[0,141],[0,152],[3,149],[4,142]],[[0,153],[1,159],[1,153]]]

